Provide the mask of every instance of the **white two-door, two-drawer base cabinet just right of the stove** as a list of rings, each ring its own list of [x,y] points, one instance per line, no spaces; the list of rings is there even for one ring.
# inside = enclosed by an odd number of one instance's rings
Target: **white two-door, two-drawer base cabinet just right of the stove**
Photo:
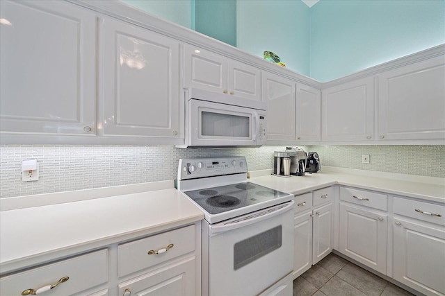
[[[332,251],[333,195],[327,187],[295,197],[293,279]]]

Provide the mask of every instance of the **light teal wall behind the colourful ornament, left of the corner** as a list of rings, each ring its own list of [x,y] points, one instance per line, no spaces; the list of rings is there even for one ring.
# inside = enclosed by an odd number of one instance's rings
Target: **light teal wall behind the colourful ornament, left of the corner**
[[[238,49],[280,56],[286,68],[309,75],[309,7],[302,1],[236,1]]]

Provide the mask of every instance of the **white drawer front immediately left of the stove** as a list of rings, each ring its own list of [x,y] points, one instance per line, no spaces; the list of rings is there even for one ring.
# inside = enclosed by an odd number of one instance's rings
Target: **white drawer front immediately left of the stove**
[[[165,251],[170,244],[173,246]],[[151,250],[159,251],[159,254],[148,254]],[[194,250],[195,225],[124,243],[118,246],[119,277],[149,268]]]

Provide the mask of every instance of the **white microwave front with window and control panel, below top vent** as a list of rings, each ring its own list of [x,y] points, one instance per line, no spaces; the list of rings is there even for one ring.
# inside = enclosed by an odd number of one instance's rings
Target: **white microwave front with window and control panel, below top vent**
[[[186,145],[258,146],[258,140],[266,138],[264,113],[246,107],[191,99],[186,114]]]

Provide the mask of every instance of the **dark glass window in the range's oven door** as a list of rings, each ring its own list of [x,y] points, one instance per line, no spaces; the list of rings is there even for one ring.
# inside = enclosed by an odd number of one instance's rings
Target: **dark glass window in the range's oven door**
[[[234,245],[234,270],[277,250],[281,244],[281,225],[236,243]]]

